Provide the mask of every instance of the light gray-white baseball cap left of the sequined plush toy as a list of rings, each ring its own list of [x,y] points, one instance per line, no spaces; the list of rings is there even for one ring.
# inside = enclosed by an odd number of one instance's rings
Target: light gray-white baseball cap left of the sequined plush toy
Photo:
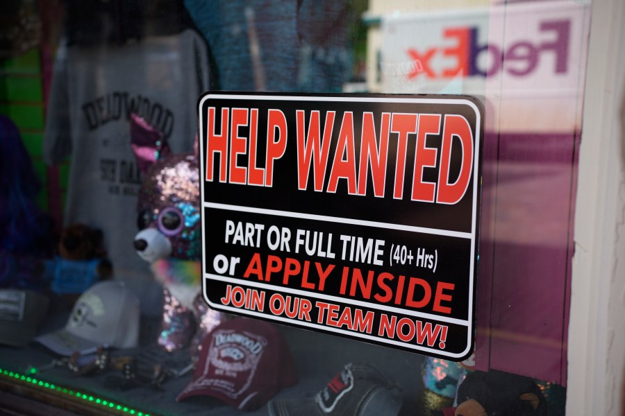
[[[139,340],[140,304],[122,281],[101,281],[78,298],[64,329],[35,338],[53,352],[88,354],[98,347],[133,348]]]

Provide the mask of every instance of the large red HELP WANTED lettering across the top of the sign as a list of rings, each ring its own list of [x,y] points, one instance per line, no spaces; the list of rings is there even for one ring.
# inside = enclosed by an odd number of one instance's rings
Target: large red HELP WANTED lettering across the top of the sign
[[[215,107],[208,107],[206,181],[272,187],[276,164],[288,144],[285,113],[267,110],[267,131],[260,133],[266,143],[260,146],[258,108],[224,107],[219,123],[215,112]],[[294,110],[294,114],[297,172],[281,174],[297,175],[299,190],[336,193],[343,180],[349,195],[365,196],[367,187],[372,187],[377,198],[390,191],[394,199],[446,205],[465,196],[472,176],[474,137],[460,114],[383,112],[377,125],[371,112]],[[362,125],[360,131],[354,127],[356,121]],[[240,132],[242,128],[249,132],[247,136]],[[438,147],[426,146],[428,135],[441,134]],[[333,136],[338,140],[332,141]],[[409,136],[416,139],[413,154],[408,154]],[[397,143],[397,148],[390,148],[391,143]],[[451,175],[452,150],[462,155],[457,175]],[[424,180],[424,168],[436,167],[436,182]],[[386,189],[387,174],[393,176],[391,190]],[[409,196],[403,195],[406,181],[412,183]]]

